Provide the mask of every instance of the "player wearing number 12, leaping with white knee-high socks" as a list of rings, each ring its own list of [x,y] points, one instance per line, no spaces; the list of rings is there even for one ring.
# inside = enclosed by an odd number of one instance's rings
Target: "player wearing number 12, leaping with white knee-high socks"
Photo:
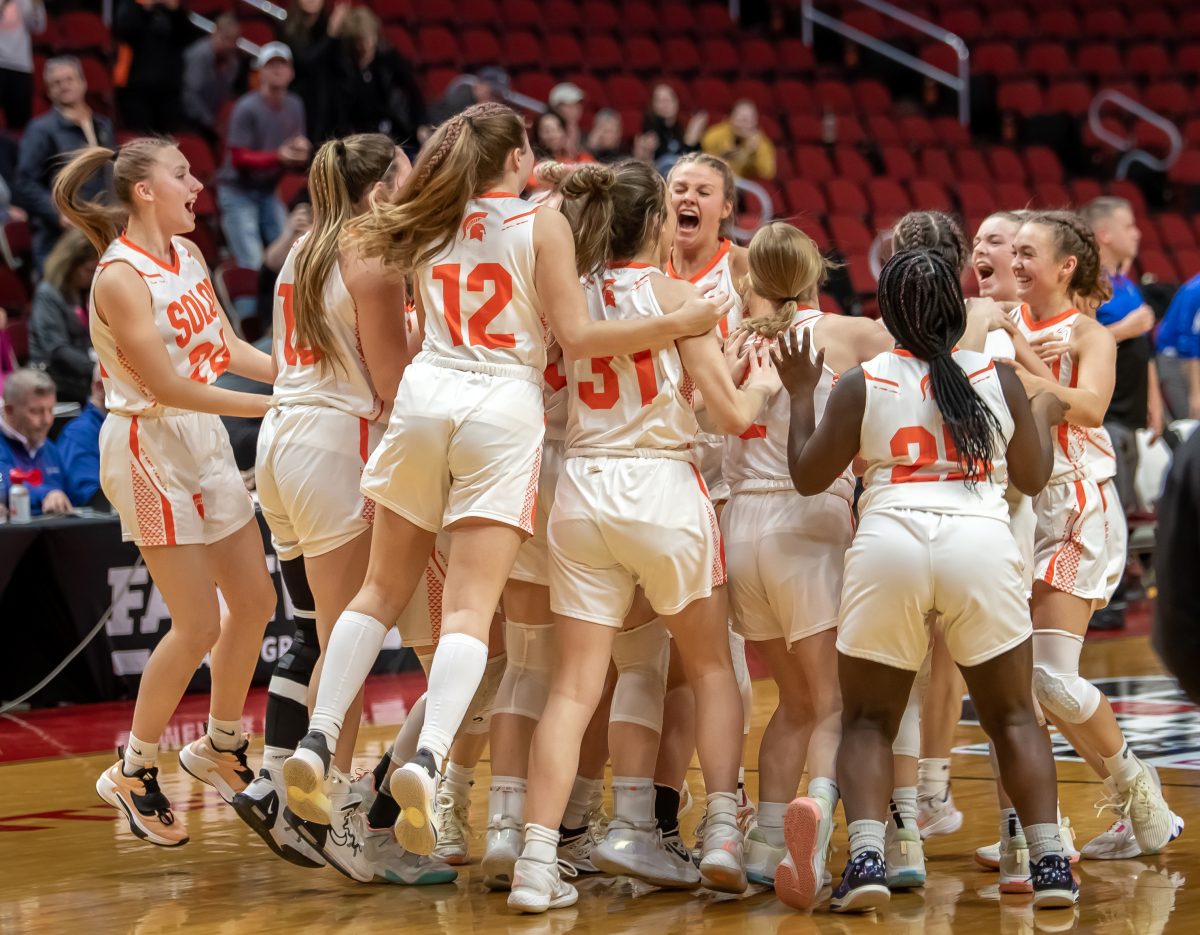
[[[725,311],[694,302],[679,320],[590,322],[566,221],[511,194],[532,167],[520,116],[475,104],[433,133],[396,202],[358,224],[365,257],[413,276],[425,344],[362,475],[377,504],[366,581],[334,628],[325,665],[336,677],[322,679],[284,779],[296,815],[330,820],[325,777],[346,713],[445,528],[450,564],[425,721],[416,754],[389,780],[397,840],[419,855],[434,847],[434,777],[484,677],[492,616],[533,532],[546,325],[565,354],[582,358],[707,332]]]

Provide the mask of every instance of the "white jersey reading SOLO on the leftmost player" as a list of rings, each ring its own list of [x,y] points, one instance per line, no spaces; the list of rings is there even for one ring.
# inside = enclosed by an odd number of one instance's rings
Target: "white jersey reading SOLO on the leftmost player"
[[[170,240],[173,264],[146,253],[125,235],[108,245],[96,275],[113,263],[127,263],[150,290],[155,326],[170,365],[181,377],[212,383],[229,367],[229,346],[221,325],[217,294],[204,262],[192,256],[179,238]],[[92,278],[91,342],[100,359],[104,406],[120,415],[160,410],[154,394],[116,344],[112,329],[96,314],[96,281]]]

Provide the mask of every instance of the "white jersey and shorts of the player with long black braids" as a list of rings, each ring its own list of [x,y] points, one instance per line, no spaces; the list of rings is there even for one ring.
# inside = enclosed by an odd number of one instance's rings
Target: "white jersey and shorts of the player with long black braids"
[[[846,553],[838,649],[912,672],[935,617],[959,665],[994,659],[1032,631],[1004,502],[1013,416],[990,358],[955,350],[953,360],[1000,424],[991,477],[973,486],[932,398],[929,365],[896,349],[862,367],[865,492]]]

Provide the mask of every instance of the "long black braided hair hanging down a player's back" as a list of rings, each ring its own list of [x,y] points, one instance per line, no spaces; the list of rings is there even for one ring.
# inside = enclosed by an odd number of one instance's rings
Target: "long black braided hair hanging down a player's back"
[[[902,250],[880,272],[880,313],[896,343],[929,364],[934,402],[967,486],[991,477],[1000,420],[952,356],[966,330],[959,271],[936,250]]]

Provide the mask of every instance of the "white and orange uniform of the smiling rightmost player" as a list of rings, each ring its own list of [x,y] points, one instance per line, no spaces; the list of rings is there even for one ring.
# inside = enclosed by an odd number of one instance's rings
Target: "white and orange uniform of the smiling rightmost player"
[[[1028,306],[1013,312],[1026,338],[1054,335],[1069,342],[1081,312],[1070,308],[1044,322]],[[1068,350],[1050,370],[1063,386],[1079,372]],[[1050,483],[1033,498],[1034,579],[1103,607],[1120,583],[1126,562],[1124,515],[1110,479],[1116,456],[1109,433],[1062,422],[1055,433]]]

